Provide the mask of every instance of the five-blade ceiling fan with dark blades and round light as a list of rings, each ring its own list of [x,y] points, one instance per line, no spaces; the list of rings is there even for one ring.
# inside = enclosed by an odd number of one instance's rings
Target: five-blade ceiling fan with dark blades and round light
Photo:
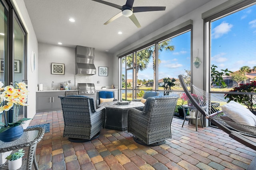
[[[132,22],[138,28],[140,28],[141,27],[140,23],[134,15],[135,12],[164,11],[165,8],[166,8],[165,6],[138,6],[138,7],[133,7],[134,0],[127,0],[126,4],[123,5],[123,6],[113,4],[113,3],[110,3],[110,2],[106,2],[106,1],[103,1],[103,0],[93,0],[93,1],[100,2],[102,4],[112,6],[114,8],[118,8],[119,10],[122,10],[121,12],[116,14],[114,17],[110,18],[110,20],[106,21],[104,23],[104,25],[107,25],[108,23],[116,20],[120,16],[126,16],[126,17],[129,17],[132,20]]]

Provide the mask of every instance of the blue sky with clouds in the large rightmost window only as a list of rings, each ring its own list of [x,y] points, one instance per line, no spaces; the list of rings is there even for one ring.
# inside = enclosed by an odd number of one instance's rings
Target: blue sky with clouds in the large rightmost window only
[[[256,5],[212,22],[211,52],[221,69],[256,65]]]

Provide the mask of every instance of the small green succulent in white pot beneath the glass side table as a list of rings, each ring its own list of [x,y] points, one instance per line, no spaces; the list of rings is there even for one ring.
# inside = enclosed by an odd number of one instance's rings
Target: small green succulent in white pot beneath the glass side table
[[[9,170],[17,170],[22,166],[22,156],[24,156],[24,152],[23,149],[20,149],[18,152],[14,152],[6,157]]]

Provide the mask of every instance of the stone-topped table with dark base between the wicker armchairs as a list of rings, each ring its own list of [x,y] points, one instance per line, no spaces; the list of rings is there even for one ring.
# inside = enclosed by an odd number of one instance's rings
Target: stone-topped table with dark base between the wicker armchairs
[[[117,105],[118,102],[104,102],[99,107],[106,107],[105,128],[119,131],[127,130],[127,114],[129,108],[144,107],[142,102],[130,102],[127,105]]]

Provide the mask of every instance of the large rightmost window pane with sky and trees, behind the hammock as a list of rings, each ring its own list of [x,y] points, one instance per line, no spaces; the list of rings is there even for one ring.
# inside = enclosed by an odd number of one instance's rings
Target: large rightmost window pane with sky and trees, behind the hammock
[[[229,91],[256,77],[256,5],[211,22],[211,65],[222,72],[226,84],[213,83],[211,91]]]

